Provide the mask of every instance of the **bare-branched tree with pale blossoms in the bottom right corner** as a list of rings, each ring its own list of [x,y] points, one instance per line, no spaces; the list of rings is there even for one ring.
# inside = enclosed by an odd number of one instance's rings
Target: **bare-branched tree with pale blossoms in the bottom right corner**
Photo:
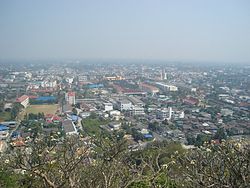
[[[172,176],[185,187],[250,187],[250,148],[247,142],[227,141],[206,145],[175,156],[178,174]]]

